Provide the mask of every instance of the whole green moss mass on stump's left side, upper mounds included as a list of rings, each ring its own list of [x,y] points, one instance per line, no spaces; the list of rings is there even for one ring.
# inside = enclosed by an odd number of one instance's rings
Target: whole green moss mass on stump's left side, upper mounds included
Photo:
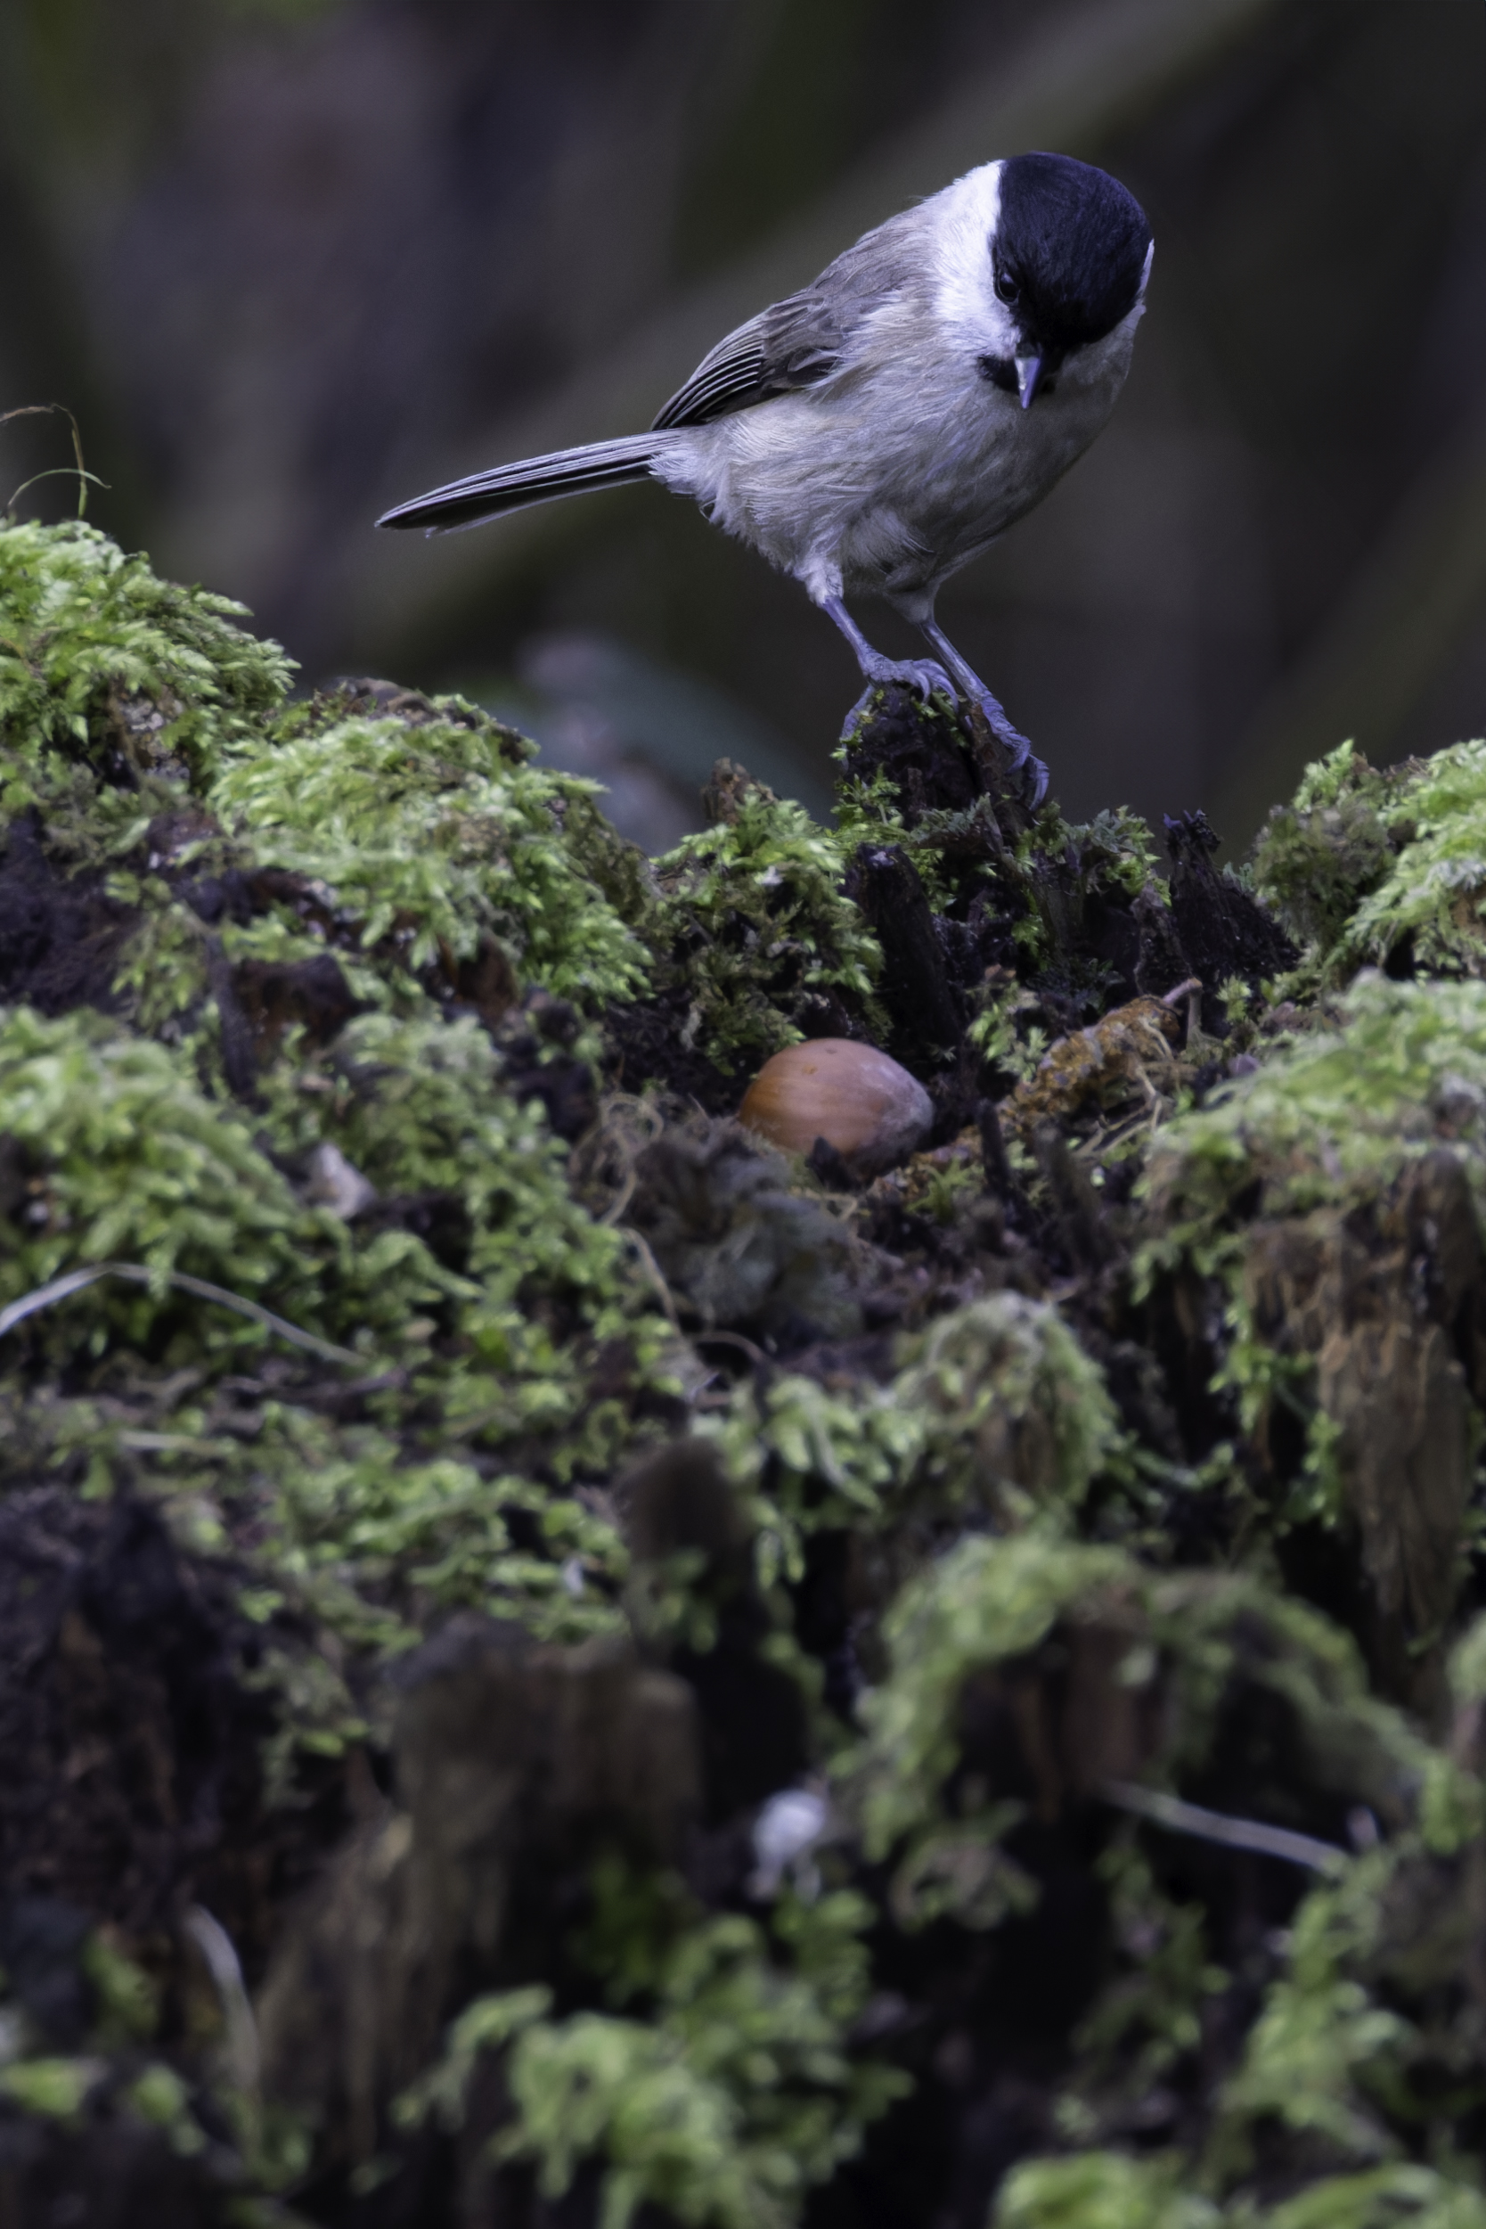
[[[0,1304],[102,1262],[149,1273],[11,1333],[0,1471],[129,1478],[183,1540],[236,1554],[290,1750],[343,1745],[343,1670],[441,1609],[610,1629],[624,1547],[570,1489],[613,1469],[671,1333],[472,1010],[492,950],[501,1003],[521,970],[559,1021],[557,996],[597,1012],[642,985],[606,896],[630,863],[588,785],[459,700],[348,684],[285,709],[287,662],[236,606],[91,531],[0,528],[0,600],[27,860],[65,889],[111,858],[134,909],[123,1016],[0,1010]],[[263,1023],[254,967],[330,981],[325,1012],[290,999]],[[537,1036],[524,1074],[581,1072],[597,1039],[573,1054],[575,1030]],[[270,1360],[261,1324],[172,1277],[365,1353],[377,1413],[341,1415],[323,1357]],[[254,1362],[243,1429],[225,1380]],[[33,1400],[27,1364],[56,1375]],[[334,1667],[305,1652],[305,1609]]]

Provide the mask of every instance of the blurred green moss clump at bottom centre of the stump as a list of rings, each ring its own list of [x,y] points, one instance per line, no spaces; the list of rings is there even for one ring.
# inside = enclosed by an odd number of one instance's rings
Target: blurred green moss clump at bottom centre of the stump
[[[637,1912],[671,1926],[637,1939]],[[615,1935],[619,1917],[628,1924]],[[401,2113],[434,2106],[461,2120],[479,2051],[508,2046],[515,2118],[492,2149],[535,2160],[544,2198],[561,2198],[579,2164],[599,2160],[604,2229],[628,2229],[646,2202],[697,2229],[784,2229],[907,2089],[847,2044],[869,1990],[869,1919],[851,1892],[813,1906],[786,1895],[769,1926],[737,1912],[706,1919],[675,1892],[637,1899],[602,1868],[590,1959],[610,1997],[644,1997],[648,2017],[550,2019],[546,1988],[477,1999]]]

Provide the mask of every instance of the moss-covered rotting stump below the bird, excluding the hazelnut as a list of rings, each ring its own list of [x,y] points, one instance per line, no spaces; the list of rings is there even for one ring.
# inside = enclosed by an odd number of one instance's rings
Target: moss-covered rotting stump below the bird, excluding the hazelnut
[[[1482,2229],[1486,747],[646,860],[241,622],[0,528],[13,2218]]]

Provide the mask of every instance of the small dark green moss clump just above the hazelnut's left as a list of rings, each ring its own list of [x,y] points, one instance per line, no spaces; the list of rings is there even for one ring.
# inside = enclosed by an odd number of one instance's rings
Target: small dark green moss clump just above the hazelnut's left
[[[659,983],[684,999],[686,1048],[731,1074],[871,1010],[882,954],[842,894],[844,865],[831,831],[762,782],[731,791],[715,827],[655,863],[646,936]]]

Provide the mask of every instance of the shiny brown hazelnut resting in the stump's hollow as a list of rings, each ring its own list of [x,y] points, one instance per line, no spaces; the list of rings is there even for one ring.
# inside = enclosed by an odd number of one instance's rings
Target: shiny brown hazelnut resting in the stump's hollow
[[[876,1177],[922,1146],[933,1101],[876,1045],[813,1036],[764,1061],[737,1119],[784,1152],[835,1146],[853,1177]]]

